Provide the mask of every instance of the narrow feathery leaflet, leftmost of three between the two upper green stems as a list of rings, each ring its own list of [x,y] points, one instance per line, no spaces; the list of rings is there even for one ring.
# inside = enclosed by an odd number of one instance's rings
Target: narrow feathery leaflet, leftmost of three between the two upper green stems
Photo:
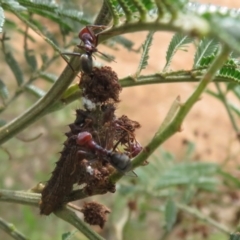
[[[139,76],[141,71],[144,68],[146,68],[146,66],[148,64],[148,58],[149,58],[148,53],[149,53],[150,47],[152,45],[153,34],[154,34],[154,31],[149,32],[144,44],[142,45],[143,52],[142,52],[142,56],[141,56],[141,59],[140,59],[139,65],[138,65],[138,69],[136,71],[136,77]]]

